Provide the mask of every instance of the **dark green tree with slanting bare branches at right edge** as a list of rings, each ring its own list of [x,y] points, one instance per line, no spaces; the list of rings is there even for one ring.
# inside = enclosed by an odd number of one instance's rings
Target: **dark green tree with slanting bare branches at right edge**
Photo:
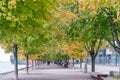
[[[95,21],[95,29],[120,54],[120,14],[115,7],[101,7]]]

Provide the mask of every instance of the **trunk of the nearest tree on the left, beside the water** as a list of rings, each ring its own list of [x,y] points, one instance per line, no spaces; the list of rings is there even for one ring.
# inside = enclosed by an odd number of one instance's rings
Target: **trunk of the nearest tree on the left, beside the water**
[[[17,44],[13,46],[13,54],[14,54],[14,68],[15,68],[15,80],[18,80],[18,59],[17,59]]]

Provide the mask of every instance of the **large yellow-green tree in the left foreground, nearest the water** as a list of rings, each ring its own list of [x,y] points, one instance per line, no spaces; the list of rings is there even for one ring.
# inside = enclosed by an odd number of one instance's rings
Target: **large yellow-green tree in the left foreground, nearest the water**
[[[5,40],[6,43],[15,43],[17,45],[17,43],[20,43],[21,36],[25,35],[24,32],[28,31],[29,33],[29,29],[33,30],[33,32],[39,31],[43,26],[40,24],[44,24],[45,21],[51,18],[51,12],[48,10],[53,10],[52,4],[53,1],[51,0],[0,1],[0,27],[3,38],[1,38],[1,43],[4,42],[4,39],[8,39]],[[4,46],[8,48],[8,45],[5,44]],[[15,71],[17,71],[17,67]],[[18,80],[18,75],[16,75],[16,80]]]

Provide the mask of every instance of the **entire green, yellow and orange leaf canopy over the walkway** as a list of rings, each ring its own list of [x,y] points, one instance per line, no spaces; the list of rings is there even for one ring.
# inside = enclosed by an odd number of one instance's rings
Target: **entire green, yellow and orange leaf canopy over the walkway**
[[[105,40],[120,53],[119,30],[119,0],[0,1],[1,46],[10,52],[16,43],[31,58],[77,58],[85,50],[95,58]]]

